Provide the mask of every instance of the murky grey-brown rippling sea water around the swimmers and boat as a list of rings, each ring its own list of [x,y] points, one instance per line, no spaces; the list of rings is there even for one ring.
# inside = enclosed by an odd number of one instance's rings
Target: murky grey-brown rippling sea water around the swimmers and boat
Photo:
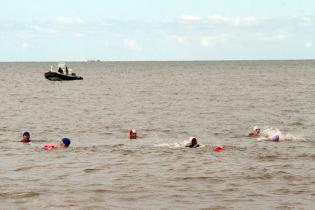
[[[314,209],[315,61],[51,65],[0,63],[0,209]]]

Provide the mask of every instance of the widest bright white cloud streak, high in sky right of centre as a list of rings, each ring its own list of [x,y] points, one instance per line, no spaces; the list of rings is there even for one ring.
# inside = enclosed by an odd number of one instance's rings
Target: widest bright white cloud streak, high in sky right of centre
[[[208,21],[217,24],[226,24],[234,27],[254,26],[257,24],[257,18],[254,16],[208,16]]]

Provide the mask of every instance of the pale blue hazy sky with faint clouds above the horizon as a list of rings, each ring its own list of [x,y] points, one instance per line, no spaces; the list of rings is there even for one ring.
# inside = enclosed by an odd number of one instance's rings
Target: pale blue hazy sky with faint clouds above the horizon
[[[0,0],[0,61],[315,58],[313,0]]]

